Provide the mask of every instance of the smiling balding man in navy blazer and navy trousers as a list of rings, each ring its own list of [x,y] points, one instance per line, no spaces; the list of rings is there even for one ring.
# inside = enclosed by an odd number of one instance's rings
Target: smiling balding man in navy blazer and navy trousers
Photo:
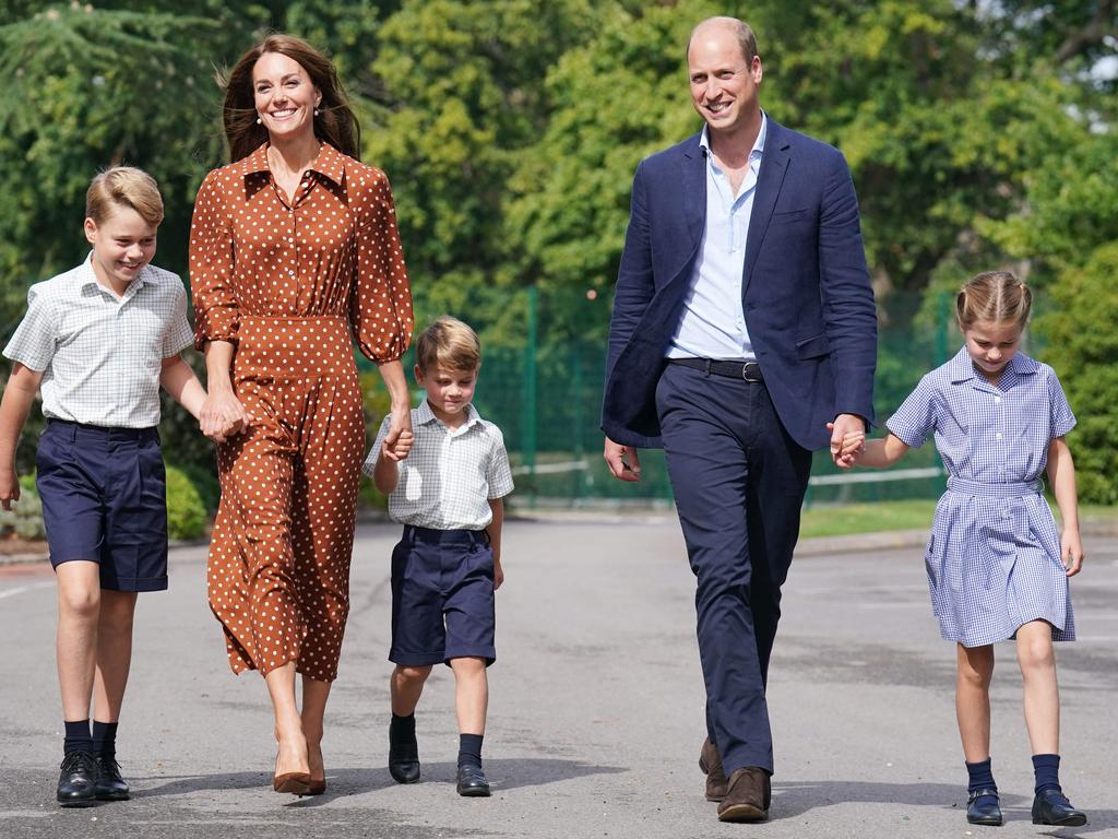
[[[722,821],[768,818],[765,686],[811,452],[873,420],[877,312],[843,155],[760,109],[749,27],[688,45],[699,135],[633,180],[606,374],[605,459],[662,446],[707,687],[700,766]]]

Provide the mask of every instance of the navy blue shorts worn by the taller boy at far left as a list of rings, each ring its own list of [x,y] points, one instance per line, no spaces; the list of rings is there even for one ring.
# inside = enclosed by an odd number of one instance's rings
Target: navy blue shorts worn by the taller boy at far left
[[[101,587],[117,592],[167,588],[167,473],[154,428],[50,420],[36,468],[51,565],[95,562]]]

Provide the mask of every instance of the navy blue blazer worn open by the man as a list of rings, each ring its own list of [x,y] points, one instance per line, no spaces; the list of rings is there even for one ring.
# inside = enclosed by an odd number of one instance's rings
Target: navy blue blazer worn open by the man
[[[699,134],[637,167],[601,409],[610,440],[661,447],[656,383],[705,226]],[[873,421],[878,317],[842,153],[768,120],[746,239],[742,310],[777,414],[805,449],[837,414]]]

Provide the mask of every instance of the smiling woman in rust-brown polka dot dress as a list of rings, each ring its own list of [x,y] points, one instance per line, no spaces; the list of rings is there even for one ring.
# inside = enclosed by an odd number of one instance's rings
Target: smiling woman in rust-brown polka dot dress
[[[234,672],[267,684],[274,789],[316,794],[364,450],[352,342],[380,367],[402,459],[411,298],[388,179],[358,162],[359,128],[326,58],[267,37],[229,75],[224,119],[233,162],[206,177],[190,232],[201,423],[219,441],[221,481],[209,603]]]

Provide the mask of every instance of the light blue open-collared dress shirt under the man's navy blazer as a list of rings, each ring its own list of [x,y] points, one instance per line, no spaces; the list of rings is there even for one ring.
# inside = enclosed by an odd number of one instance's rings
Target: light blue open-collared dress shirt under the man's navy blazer
[[[733,195],[729,176],[719,169],[710,151],[710,134],[703,126],[699,145],[707,158],[707,225],[667,358],[754,358],[741,309],[741,282],[767,129],[768,117],[762,112],[761,129],[749,152],[749,168]]]

